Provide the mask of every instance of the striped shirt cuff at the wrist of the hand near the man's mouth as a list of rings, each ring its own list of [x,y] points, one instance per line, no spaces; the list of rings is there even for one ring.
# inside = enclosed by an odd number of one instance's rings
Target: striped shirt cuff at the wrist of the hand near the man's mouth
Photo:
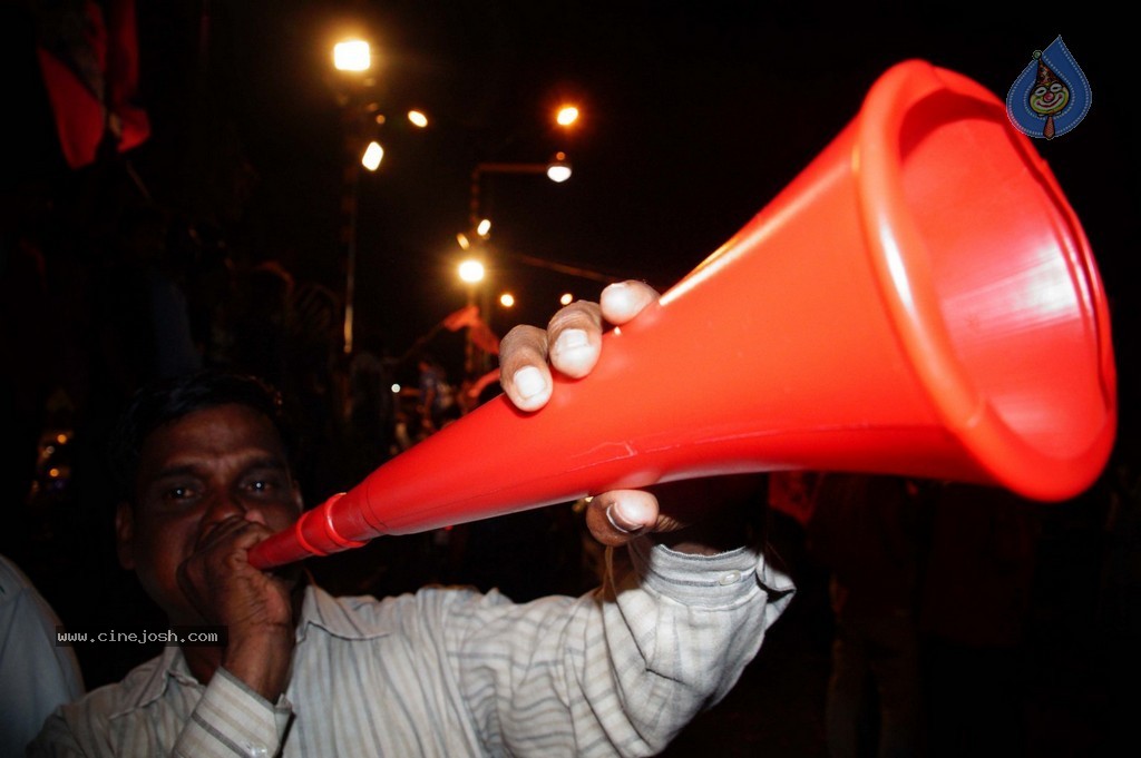
[[[175,755],[269,758],[278,752],[292,711],[284,695],[273,704],[219,667],[191,714]]]

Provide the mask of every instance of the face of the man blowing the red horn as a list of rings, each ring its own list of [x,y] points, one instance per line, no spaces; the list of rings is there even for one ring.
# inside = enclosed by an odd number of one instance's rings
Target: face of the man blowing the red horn
[[[280,531],[300,513],[273,423],[242,405],[199,410],[146,438],[136,504],[120,505],[115,519],[119,560],[172,623],[201,623],[178,586],[178,567],[225,519]]]

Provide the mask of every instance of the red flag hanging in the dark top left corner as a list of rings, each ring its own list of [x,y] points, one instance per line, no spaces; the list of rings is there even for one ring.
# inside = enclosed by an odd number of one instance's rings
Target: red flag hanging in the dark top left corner
[[[94,163],[108,132],[120,153],[145,141],[135,0],[107,0],[106,13],[95,0],[39,8],[37,56],[67,164]]]

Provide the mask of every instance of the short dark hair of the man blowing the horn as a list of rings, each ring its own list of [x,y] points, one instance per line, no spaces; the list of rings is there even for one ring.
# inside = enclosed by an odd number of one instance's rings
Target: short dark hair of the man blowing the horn
[[[152,432],[197,410],[230,404],[251,408],[273,423],[292,466],[296,439],[281,392],[256,376],[208,369],[148,384],[128,402],[108,449],[119,497],[135,500],[143,443]]]

